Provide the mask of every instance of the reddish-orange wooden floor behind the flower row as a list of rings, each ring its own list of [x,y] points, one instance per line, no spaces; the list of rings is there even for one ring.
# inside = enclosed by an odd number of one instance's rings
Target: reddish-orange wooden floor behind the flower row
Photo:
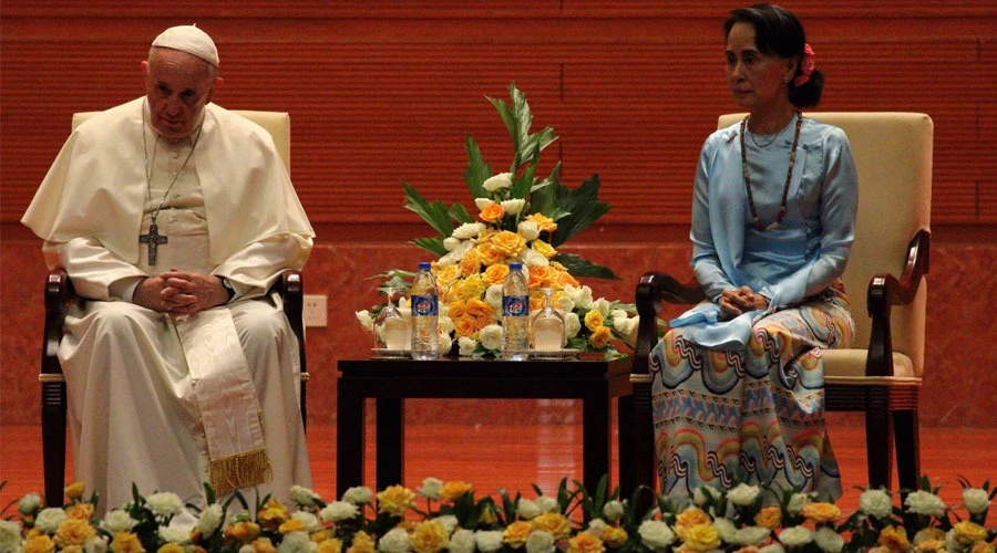
[[[853,425],[832,425],[830,428],[845,487],[845,494],[837,504],[847,513],[857,507],[860,490],[855,487],[865,483],[865,432],[861,426]],[[923,428],[921,437],[922,471],[933,483],[944,483],[941,497],[947,504],[960,501],[959,476],[974,486],[980,486],[987,479],[997,483],[997,428]],[[308,444],[314,489],[330,500],[336,488],[335,427],[310,426]],[[465,427],[410,424],[405,430],[405,445],[403,483],[410,488],[418,487],[426,477],[435,477],[471,481],[477,495],[504,488],[513,494],[520,491],[525,497],[533,497],[534,483],[553,493],[562,478],[582,478],[580,425]],[[372,486],[371,444],[367,450],[366,483]],[[615,453],[613,459],[616,467]],[[66,481],[71,476],[72,469],[68,467]],[[39,426],[0,426],[0,481],[3,480],[8,483],[0,491],[0,508],[24,493],[41,492]],[[997,508],[990,510],[988,526],[997,526]]]

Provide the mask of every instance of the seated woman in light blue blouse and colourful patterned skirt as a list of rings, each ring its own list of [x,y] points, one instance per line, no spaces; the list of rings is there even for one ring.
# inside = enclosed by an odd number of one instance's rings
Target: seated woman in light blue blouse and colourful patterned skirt
[[[658,470],[675,498],[739,482],[836,498],[820,349],[852,341],[840,276],[855,166],[844,132],[800,112],[823,74],[796,18],[757,4],[723,29],[748,116],[710,135],[697,167],[692,270],[711,302],[671,321],[651,354]]]

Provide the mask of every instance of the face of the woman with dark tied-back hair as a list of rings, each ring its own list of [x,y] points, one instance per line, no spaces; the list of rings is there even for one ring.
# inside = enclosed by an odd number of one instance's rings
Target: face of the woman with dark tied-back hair
[[[789,103],[789,77],[795,61],[763,54],[754,44],[754,25],[739,22],[727,35],[727,81],[734,102],[749,112]]]

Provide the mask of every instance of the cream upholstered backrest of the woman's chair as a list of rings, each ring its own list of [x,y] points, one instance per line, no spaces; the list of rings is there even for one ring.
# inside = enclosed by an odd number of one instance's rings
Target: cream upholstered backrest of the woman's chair
[[[932,149],[934,124],[922,113],[808,113],[822,123],[841,127],[849,136],[859,171],[859,219],[855,243],[844,282],[855,320],[853,347],[868,346],[870,317],[866,291],[876,273],[900,276],[907,243],[921,229],[931,229]],[[734,124],[744,114],[720,116],[718,128]],[[914,302],[894,306],[894,352],[914,363],[914,374],[924,367],[927,285]]]

